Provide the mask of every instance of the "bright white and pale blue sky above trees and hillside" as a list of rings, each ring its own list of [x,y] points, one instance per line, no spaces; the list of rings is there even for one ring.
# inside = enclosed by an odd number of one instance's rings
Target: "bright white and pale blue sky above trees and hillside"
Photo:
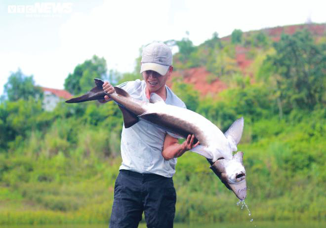
[[[109,70],[131,72],[153,41],[189,37],[199,45],[214,32],[325,23],[325,9],[325,0],[1,0],[0,94],[18,68],[37,85],[63,89],[93,55]]]

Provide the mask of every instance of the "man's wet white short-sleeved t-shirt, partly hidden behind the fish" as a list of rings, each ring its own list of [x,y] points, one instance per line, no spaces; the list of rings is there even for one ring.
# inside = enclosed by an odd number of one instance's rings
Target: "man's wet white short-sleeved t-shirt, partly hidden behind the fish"
[[[145,94],[146,83],[144,80],[124,82],[118,87],[127,91],[135,99],[149,102]],[[186,108],[186,105],[166,88],[166,100],[168,105]],[[175,173],[176,158],[165,160],[162,155],[165,134],[176,137],[151,123],[143,120],[129,128],[122,128],[120,169],[126,169],[138,173],[154,173],[164,177],[172,177]]]

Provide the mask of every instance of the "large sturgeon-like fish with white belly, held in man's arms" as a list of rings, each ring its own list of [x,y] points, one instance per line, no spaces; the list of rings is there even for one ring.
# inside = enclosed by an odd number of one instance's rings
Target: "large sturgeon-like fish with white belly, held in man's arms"
[[[204,116],[180,107],[166,105],[156,93],[151,94],[150,103],[132,98],[122,88],[114,87],[116,92],[107,94],[102,85],[104,81],[95,78],[96,86],[81,97],[73,98],[67,103],[79,103],[104,99],[108,95],[122,111],[124,127],[128,128],[139,120],[151,122],[169,132],[187,138],[195,135],[195,143],[200,145],[191,149],[207,158],[210,168],[220,178],[222,183],[232,190],[239,199],[246,196],[245,169],[243,152],[237,151],[240,142],[244,118],[237,119],[225,132],[215,126]]]

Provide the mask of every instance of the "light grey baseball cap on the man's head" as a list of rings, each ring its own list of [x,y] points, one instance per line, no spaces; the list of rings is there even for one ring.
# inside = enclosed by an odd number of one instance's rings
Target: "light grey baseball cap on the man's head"
[[[165,75],[172,65],[172,51],[164,43],[151,43],[143,50],[140,74],[144,71],[155,71]]]

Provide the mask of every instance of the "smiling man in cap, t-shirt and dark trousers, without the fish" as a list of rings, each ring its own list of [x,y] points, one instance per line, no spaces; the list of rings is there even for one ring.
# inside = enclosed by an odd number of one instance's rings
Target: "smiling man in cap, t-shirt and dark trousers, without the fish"
[[[149,102],[151,93],[160,95],[166,104],[186,108],[185,104],[165,83],[171,76],[172,52],[163,43],[144,48],[141,71],[144,80],[122,83],[119,87],[133,98]],[[103,84],[108,93],[115,92],[109,82]],[[109,101],[109,96],[105,96]],[[176,158],[197,146],[194,135],[182,144],[177,136],[139,121],[130,128],[122,128],[122,165],[114,192],[110,228],[136,228],[144,211],[148,228],[172,228],[176,193],[172,176]]]

